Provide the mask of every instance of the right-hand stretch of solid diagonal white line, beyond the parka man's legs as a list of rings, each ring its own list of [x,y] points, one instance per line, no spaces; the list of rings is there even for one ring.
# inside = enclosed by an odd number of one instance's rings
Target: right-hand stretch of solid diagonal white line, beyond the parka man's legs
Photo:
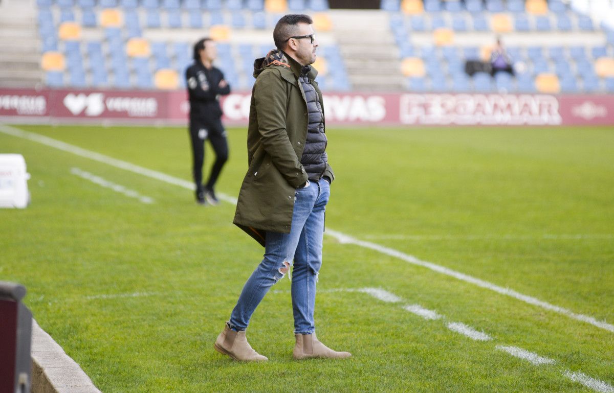
[[[569,316],[569,318],[577,319],[578,321],[587,322],[593,326],[600,327],[601,329],[609,330],[610,332],[614,332],[614,325],[608,324],[605,321],[597,321],[597,319],[592,316],[583,315],[574,313],[573,311],[567,310],[567,308],[559,307],[548,302],[544,302],[543,300],[539,300],[536,297],[528,296],[521,294],[519,292],[514,291],[510,288],[503,288],[502,286],[489,283],[488,281],[480,280],[480,278],[475,278],[465,273],[457,272],[456,270],[448,269],[447,267],[433,264],[432,262],[421,261],[420,259],[411,256],[409,254],[402,253],[401,251],[394,250],[392,248],[384,247],[376,243],[365,242],[364,240],[358,240],[357,238],[342,234],[341,232],[333,231],[330,228],[327,228],[324,234],[328,234],[338,240],[338,242],[342,244],[354,244],[357,246],[361,246],[364,248],[369,248],[370,250],[378,251],[379,253],[386,254],[392,256],[394,258],[402,259],[405,262],[409,262],[413,265],[418,265],[422,267],[426,267],[427,269],[433,270],[438,273],[443,273],[450,277],[457,278],[458,280],[465,281],[467,283],[475,284],[480,286],[481,288],[490,289],[491,291],[495,291],[502,295],[513,297],[514,299],[521,300],[525,303],[529,303],[531,305],[535,305],[538,307],[545,308],[546,310],[554,311],[556,313]]]

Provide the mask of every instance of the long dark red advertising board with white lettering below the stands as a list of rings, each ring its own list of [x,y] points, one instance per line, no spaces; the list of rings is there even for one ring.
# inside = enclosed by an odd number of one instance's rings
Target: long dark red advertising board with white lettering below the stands
[[[247,124],[249,92],[222,97],[227,124]],[[0,90],[0,120],[187,124],[184,91]],[[614,96],[324,94],[327,125],[614,125]]]

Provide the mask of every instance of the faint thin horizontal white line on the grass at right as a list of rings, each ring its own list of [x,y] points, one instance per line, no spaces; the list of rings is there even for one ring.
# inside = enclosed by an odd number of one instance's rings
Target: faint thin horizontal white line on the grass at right
[[[364,235],[364,238],[371,240],[582,240],[582,239],[614,239],[614,234],[545,234],[545,235],[502,235],[502,236],[483,236],[483,235]]]

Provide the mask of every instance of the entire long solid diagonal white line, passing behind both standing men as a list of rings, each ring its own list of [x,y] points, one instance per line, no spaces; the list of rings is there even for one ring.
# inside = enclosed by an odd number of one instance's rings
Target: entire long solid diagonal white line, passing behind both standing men
[[[136,166],[134,164],[130,164],[130,162],[121,161],[119,159],[101,155],[99,153],[95,153],[94,151],[85,150],[83,148],[76,147],[74,145],[69,145],[68,143],[60,142],[59,140],[55,140],[55,139],[45,137],[39,134],[34,134],[33,132],[23,131],[23,130],[14,128],[14,127],[6,126],[5,124],[0,124],[0,132],[4,132],[4,134],[13,135],[15,137],[33,140],[34,142],[39,142],[39,143],[42,143],[50,147],[55,147],[63,151],[68,151],[69,153],[73,153],[78,156],[90,158],[95,161],[103,162],[104,164],[118,167],[120,169],[130,170],[131,172],[134,172],[137,174],[155,178],[160,181],[165,181],[166,183],[169,183],[169,184],[177,185],[177,186],[187,188],[187,189],[192,189],[192,190],[195,188],[195,186],[190,181],[182,180],[180,178],[176,178],[171,175],[166,175],[161,172],[157,172],[155,170]],[[219,194],[219,198],[222,200],[225,200],[226,202],[230,204],[236,205],[236,202],[237,202],[237,199],[235,197],[230,197],[225,194]],[[513,291],[512,289],[503,288],[496,284],[489,283],[488,281],[480,280],[480,278],[475,278],[475,277],[466,275],[461,272],[456,272],[456,270],[448,269],[447,267],[433,264],[432,262],[421,261],[418,258],[411,256],[409,254],[402,253],[401,251],[397,251],[392,248],[387,248],[387,247],[378,245],[376,243],[365,242],[363,240],[357,240],[356,238],[353,238],[349,235],[343,234],[341,232],[333,231],[330,228],[328,228],[324,232],[324,234],[335,237],[338,240],[338,242],[342,244],[354,244],[354,245],[362,246],[364,248],[369,248],[371,250],[378,251],[379,253],[383,253],[383,254],[392,256],[394,258],[402,259],[405,262],[409,262],[414,265],[426,267],[427,269],[433,270],[435,272],[443,273],[445,275],[457,278],[458,280],[465,281],[471,284],[475,284],[476,286],[480,286],[481,288],[490,289],[491,291],[495,291],[500,294],[513,297],[514,299],[521,300],[531,305],[542,307],[545,310],[554,311],[556,313],[568,316],[569,318],[573,318],[573,319],[577,319],[578,321],[589,323],[593,326],[599,327],[600,329],[614,332],[614,325],[608,324],[605,321],[597,321],[597,319],[593,318],[592,316],[574,313],[573,311],[567,310],[567,308],[559,307],[559,306],[550,304],[548,302],[544,302],[543,300],[539,300],[532,296],[523,295],[519,292]]]

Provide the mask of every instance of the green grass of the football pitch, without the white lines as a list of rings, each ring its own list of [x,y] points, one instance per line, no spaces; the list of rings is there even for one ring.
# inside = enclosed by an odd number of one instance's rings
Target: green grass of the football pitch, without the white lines
[[[17,127],[190,180],[185,128]],[[247,169],[245,132],[228,129],[218,185],[228,196]],[[327,135],[336,174],[327,229],[614,322],[612,128]],[[37,322],[104,393],[594,392],[614,384],[614,332],[328,235],[316,327],[352,358],[292,360],[284,279],[247,330],[270,361],[231,361],[212,344],[262,258],[231,223],[232,204],[200,207],[188,189],[2,132],[0,153],[25,156],[32,195],[25,210],[0,210],[0,280],[28,288]],[[206,158],[210,165],[211,150]],[[402,301],[352,291],[360,288]],[[451,322],[491,340],[472,340]],[[553,362],[534,365],[499,346]]]

